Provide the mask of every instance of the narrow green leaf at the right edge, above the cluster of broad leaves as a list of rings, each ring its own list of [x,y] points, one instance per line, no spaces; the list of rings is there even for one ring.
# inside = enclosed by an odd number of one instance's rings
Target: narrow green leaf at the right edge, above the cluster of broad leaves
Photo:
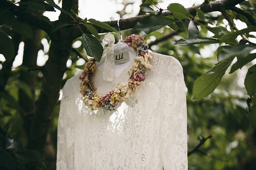
[[[236,40],[236,37],[242,34],[247,34],[249,32],[255,32],[256,31],[256,26],[249,26],[248,28],[241,29],[239,31],[233,31],[233,32],[228,32],[227,34],[224,34],[221,37],[221,41],[227,42],[227,41],[234,41]]]

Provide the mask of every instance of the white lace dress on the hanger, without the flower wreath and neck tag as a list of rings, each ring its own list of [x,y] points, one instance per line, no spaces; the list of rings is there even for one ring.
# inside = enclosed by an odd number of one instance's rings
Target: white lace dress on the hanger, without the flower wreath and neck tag
[[[113,81],[102,79],[104,61],[99,63],[93,76],[99,95],[128,80],[136,56],[126,48],[131,62],[115,65]],[[80,74],[66,82],[58,119],[57,170],[187,170],[182,67],[174,57],[152,56],[153,69],[142,87],[115,112],[90,111],[83,104]]]

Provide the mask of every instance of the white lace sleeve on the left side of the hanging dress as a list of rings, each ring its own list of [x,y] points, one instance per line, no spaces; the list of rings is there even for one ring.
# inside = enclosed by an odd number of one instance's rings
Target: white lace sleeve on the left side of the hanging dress
[[[74,100],[70,95],[70,84],[64,86],[61,108],[58,118],[57,170],[73,170],[75,116]]]

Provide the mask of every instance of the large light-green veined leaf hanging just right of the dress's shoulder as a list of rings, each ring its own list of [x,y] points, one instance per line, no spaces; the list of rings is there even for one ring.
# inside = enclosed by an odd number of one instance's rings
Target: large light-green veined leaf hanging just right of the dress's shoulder
[[[220,84],[222,77],[234,58],[229,57],[218,62],[214,68],[196,79],[193,86],[193,99],[199,99],[211,94]]]

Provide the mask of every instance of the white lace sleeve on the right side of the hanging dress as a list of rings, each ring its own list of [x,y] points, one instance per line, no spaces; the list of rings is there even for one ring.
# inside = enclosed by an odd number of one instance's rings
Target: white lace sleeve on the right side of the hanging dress
[[[183,69],[177,59],[167,57],[160,92],[162,125],[160,154],[164,170],[187,170],[186,92]]]

